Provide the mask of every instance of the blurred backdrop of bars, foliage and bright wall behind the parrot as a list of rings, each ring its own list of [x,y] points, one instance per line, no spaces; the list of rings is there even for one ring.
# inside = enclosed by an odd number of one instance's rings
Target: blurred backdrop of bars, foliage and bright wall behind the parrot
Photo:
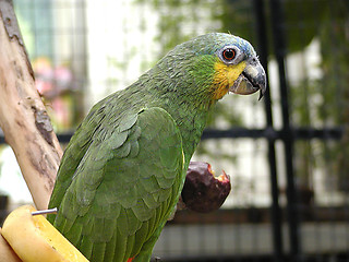
[[[229,95],[194,159],[231,177],[224,206],[178,212],[161,261],[349,261],[348,0],[14,0],[62,146],[88,109],[208,32],[255,47],[268,92]],[[0,135],[0,224],[32,198]]]

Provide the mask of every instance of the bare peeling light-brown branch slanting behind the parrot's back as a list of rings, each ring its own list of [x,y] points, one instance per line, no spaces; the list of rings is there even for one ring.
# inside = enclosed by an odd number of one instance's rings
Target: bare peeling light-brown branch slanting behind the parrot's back
[[[62,150],[35,87],[12,1],[0,0],[0,127],[37,210],[48,206]]]

